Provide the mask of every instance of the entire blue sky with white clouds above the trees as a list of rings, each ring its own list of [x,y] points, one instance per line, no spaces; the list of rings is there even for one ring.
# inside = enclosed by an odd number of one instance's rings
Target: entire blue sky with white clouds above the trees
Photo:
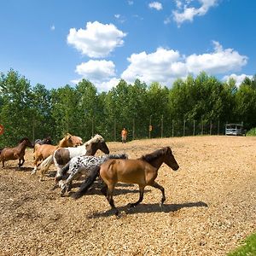
[[[0,0],[0,72],[46,88],[256,73],[253,0]]]

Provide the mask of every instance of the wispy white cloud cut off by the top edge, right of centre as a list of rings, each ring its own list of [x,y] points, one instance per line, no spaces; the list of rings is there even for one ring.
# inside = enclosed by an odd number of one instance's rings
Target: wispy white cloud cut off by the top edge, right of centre
[[[172,12],[173,19],[180,26],[184,21],[193,21],[195,16],[206,15],[218,0],[176,0],[177,9]],[[199,4],[199,7],[193,5]]]

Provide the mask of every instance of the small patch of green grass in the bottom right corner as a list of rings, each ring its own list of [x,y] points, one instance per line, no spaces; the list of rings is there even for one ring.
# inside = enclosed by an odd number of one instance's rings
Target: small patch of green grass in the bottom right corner
[[[256,233],[241,241],[241,246],[228,256],[256,256]]]

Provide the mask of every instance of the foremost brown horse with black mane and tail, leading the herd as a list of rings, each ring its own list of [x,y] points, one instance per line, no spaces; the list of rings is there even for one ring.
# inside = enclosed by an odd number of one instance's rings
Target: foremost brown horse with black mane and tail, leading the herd
[[[152,186],[155,189],[160,189],[162,192],[161,206],[166,201],[165,189],[154,180],[158,175],[160,166],[166,163],[172,170],[177,171],[179,168],[175,160],[172,149],[170,147],[160,148],[151,154],[145,154],[136,160],[108,160],[99,168],[95,168],[93,172],[81,185],[79,191],[73,195],[75,199],[84,195],[94,183],[96,177],[100,175],[104,182],[101,189],[102,194],[108,199],[115,215],[119,214],[118,209],[113,203],[113,189],[118,182],[122,183],[137,183],[139,185],[139,200],[129,204],[129,207],[136,207],[143,201],[144,189],[146,186]]]

